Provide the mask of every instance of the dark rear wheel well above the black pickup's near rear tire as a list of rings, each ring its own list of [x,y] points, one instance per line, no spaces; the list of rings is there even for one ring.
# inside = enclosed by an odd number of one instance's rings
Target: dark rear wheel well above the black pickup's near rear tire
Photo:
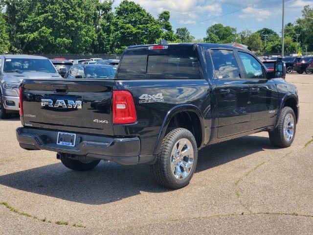
[[[169,125],[166,130],[166,134],[169,133],[174,128],[185,128],[188,131],[190,131],[196,141],[197,146],[201,146],[202,142],[202,129],[201,129],[201,122],[199,116],[192,111],[182,111],[174,115],[174,117],[171,118]],[[165,135],[166,135],[165,134]]]

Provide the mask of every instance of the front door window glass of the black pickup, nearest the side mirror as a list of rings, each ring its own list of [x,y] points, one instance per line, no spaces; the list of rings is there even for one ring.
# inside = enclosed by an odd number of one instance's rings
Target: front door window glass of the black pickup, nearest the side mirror
[[[262,65],[252,55],[238,51],[239,58],[243,62],[246,78],[248,79],[265,79]]]

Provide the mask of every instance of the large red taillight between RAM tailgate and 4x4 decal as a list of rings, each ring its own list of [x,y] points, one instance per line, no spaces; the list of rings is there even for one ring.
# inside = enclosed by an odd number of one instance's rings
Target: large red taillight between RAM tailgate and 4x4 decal
[[[136,122],[136,110],[133,95],[128,91],[113,91],[113,124],[131,124]]]

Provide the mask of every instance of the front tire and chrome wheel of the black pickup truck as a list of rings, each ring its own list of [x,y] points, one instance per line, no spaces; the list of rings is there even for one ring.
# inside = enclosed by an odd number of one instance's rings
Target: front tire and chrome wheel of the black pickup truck
[[[294,140],[296,118],[291,107],[284,107],[278,119],[278,126],[268,132],[269,140],[275,147],[287,148]]]

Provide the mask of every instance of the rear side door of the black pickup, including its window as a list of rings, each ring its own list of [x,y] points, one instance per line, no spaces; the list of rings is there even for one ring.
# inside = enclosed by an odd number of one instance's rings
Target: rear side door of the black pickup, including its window
[[[218,138],[246,132],[249,112],[249,84],[242,79],[242,71],[231,49],[210,50],[217,104]]]

